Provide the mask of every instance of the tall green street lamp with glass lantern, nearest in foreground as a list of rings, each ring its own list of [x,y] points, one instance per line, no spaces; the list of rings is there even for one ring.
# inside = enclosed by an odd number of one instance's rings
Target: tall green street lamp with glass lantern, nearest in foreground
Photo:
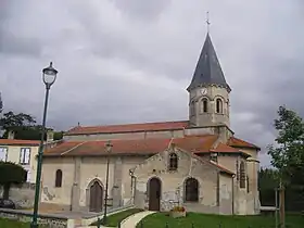
[[[46,85],[46,98],[45,98],[45,107],[43,107],[41,139],[40,139],[38,161],[37,161],[38,163],[37,163],[37,174],[36,174],[34,213],[33,213],[33,220],[30,224],[31,228],[38,228],[37,217],[38,217],[38,206],[39,206],[39,194],[40,194],[40,181],[41,181],[42,155],[43,155],[43,142],[45,142],[45,135],[46,135],[48,101],[49,101],[50,88],[55,83],[56,74],[58,74],[58,71],[55,68],[53,68],[52,62],[50,62],[50,66],[42,69],[42,79]]]

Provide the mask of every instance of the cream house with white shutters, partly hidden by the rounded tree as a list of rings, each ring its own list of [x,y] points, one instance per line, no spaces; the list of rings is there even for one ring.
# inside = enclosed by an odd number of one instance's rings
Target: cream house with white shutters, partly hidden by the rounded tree
[[[53,140],[53,132],[48,132],[47,143]],[[14,131],[10,131],[8,139],[0,139],[0,161],[20,164],[27,170],[27,182],[35,183],[39,150],[39,140],[14,139]]]

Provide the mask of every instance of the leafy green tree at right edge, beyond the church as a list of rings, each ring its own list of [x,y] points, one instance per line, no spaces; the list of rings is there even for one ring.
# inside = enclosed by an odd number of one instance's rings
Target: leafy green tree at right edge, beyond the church
[[[271,156],[271,165],[279,170],[282,181],[288,183],[295,180],[295,176],[301,176],[299,172],[304,170],[304,123],[294,111],[286,106],[279,106],[278,115],[274,124],[278,131],[276,145],[268,147],[268,154]],[[303,175],[300,179],[304,180]]]

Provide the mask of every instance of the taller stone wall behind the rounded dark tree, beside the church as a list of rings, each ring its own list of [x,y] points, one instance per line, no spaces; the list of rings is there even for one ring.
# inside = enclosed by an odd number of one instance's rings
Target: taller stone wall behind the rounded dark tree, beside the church
[[[3,189],[0,187],[0,195]],[[12,186],[10,189],[10,200],[12,200],[18,208],[30,208],[34,205],[35,183],[24,183],[22,186]]]

